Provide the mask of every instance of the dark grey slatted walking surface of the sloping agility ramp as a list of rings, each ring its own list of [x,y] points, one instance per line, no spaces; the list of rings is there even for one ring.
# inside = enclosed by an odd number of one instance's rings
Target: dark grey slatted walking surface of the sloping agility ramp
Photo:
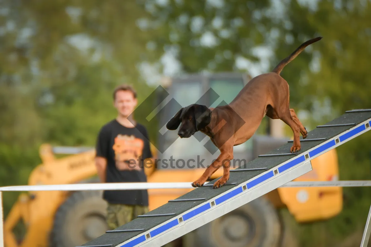
[[[243,168],[273,168],[278,166],[279,164],[288,161],[289,159],[296,157],[303,152],[318,146],[321,143],[324,143],[326,140],[341,134],[344,131],[349,130],[350,128],[354,127],[357,124],[360,124],[368,119],[371,118],[371,110],[369,111],[355,111],[344,113],[342,116],[324,124],[352,124],[352,125],[345,125],[345,126],[331,126],[331,127],[317,127],[314,130],[308,133],[308,139],[316,139],[316,138],[325,138],[324,140],[316,140],[316,141],[302,141],[301,151],[287,155],[287,156],[263,156],[258,157],[255,160],[250,161],[246,165],[243,165],[239,168],[236,168],[235,171],[230,172],[230,179],[224,186],[220,188],[213,189],[212,186],[203,186],[195,188],[194,190],[184,194],[183,196],[178,197],[177,199],[199,199],[205,198],[204,200],[194,200],[194,201],[170,201],[150,212],[144,214],[144,216],[150,216],[155,214],[172,214],[167,216],[152,216],[152,217],[138,217],[131,222],[116,228],[115,230],[133,230],[139,229],[138,231],[129,231],[129,232],[115,232],[115,233],[105,233],[102,236],[95,238],[88,243],[83,244],[82,246],[99,246],[99,245],[109,245],[117,246],[118,244],[123,243],[124,241],[129,240],[132,237],[135,237],[161,223],[164,223],[171,218],[178,216],[179,214],[184,213],[187,210],[203,203],[206,200],[210,200],[213,197],[218,196],[221,193],[224,193],[227,190],[230,190],[233,187],[238,186],[241,183],[263,173],[266,169],[262,170],[253,170],[253,171],[238,171],[239,169]],[[302,139],[302,137],[301,137]],[[289,153],[290,147],[292,146],[292,142],[288,142],[287,144],[277,148],[276,150],[272,150],[267,154],[282,154],[282,153]],[[210,181],[209,185],[214,184],[217,179]],[[143,229],[143,230],[140,230]]]

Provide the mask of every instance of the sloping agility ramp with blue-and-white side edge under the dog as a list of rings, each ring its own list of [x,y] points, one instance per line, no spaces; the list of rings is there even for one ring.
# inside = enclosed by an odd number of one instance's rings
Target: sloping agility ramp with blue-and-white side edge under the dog
[[[310,131],[301,140],[301,151],[289,153],[292,141],[288,141],[231,170],[223,187],[213,189],[217,179],[211,181],[82,246],[163,246],[311,171],[313,158],[365,133],[370,124],[371,109],[346,111]]]

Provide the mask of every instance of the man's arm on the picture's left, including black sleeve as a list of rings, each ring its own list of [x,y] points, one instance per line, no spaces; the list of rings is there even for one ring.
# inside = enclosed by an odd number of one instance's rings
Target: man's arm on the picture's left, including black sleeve
[[[96,157],[95,157],[95,167],[98,173],[99,180],[101,183],[106,182],[106,168],[107,168],[107,158],[108,158],[108,145],[109,145],[109,134],[103,127],[98,134],[96,141]]]

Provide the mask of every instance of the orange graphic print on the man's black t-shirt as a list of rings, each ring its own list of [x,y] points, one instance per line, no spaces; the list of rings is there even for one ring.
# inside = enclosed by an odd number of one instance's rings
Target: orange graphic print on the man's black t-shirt
[[[119,170],[128,168],[127,162],[130,167],[134,167],[139,162],[139,156],[142,155],[144,142],[142,139],[135,136],[119,134],[115,138],[115,143],[112,149],[115,151],[116,167]]]

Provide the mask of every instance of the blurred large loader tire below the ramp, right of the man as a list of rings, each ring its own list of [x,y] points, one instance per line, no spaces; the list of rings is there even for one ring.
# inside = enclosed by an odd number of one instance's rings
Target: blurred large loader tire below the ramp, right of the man
[[[194,231],[194,246],[278,247],[281,226],[276,209],[259,197]]]

